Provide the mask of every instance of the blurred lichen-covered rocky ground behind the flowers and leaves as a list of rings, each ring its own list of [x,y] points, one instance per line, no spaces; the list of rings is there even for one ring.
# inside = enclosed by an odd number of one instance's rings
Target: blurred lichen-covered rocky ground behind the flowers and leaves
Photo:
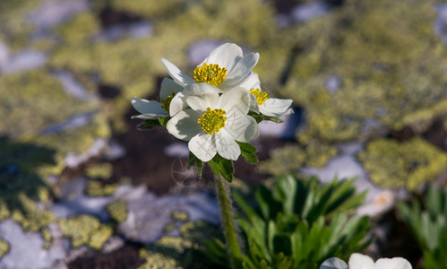
[[[234,187],[355,177],[358,213],[382,223],[370,253],[416,266],[394,202],[447,185],[441,2],[2,0],[0,266],[188,261],[207,237],[197,223],[219,229],[211,173],[188,171],[186,143],[164,130],[138,131],[131,100],[158,100],[161,57],[193,74],[225,42],[259,52],[263,87],[295,110],[262,123],[261,162],[237,161]]]

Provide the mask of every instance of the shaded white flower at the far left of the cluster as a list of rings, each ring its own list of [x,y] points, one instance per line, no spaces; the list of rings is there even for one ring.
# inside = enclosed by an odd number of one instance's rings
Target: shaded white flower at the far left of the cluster
[[[169,110],[179,111],[185,108],[185,104],[180,100],[171,102],[176,94],[182,91],[183,88],[176,84],[171,79],[164,78],[161,82],[159,91],[159,101],[156,100],[144,100],[137,97],[133,97],[132,106],[141,115],[133,116],[132,118],[142,118],[142,119],[157,119],[159,117],[168,117]]]

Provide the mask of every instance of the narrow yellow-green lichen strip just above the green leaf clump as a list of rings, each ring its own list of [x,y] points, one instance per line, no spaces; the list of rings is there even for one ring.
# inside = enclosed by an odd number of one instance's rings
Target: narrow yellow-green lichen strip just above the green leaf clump
[[[337,154],[337,148],[325,143],[287,145],[271,151],[271,159],[262,161],[259,171],[275,176],[296,173],[304,166],[321,168]]]

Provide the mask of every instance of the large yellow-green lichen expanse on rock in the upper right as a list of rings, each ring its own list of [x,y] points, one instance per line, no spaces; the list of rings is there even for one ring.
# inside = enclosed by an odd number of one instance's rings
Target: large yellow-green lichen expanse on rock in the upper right
[[[355,140],[368,119],[420,134],[446,115],[447,50],[433,30],[435,15],[430,1],[345,1],[300,27],[302,53],[281,91],[305,108],[298,135]],[[340,88],[329,91],[325,83],[334,75]]]

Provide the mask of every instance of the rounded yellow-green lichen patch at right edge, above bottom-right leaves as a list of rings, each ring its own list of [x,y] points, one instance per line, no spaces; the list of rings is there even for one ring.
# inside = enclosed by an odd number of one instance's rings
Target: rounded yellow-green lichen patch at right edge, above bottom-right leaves
[[[410,190],[434,179],[447,165],[447,154],[418,137],[401,143],[375,140],[358,153],[358,159],[378,186]]]

